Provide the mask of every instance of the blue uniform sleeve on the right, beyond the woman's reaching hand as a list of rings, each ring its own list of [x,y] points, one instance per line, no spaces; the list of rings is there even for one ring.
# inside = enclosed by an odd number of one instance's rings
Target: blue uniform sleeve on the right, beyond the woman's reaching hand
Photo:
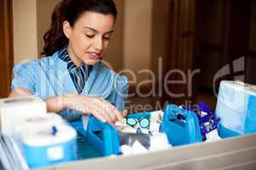
[[[115,105],[118,111],[123,111],[125,109],[126,101],[128,99],[128,79],[125,76],[118,76],[116,86],[116,99]]]

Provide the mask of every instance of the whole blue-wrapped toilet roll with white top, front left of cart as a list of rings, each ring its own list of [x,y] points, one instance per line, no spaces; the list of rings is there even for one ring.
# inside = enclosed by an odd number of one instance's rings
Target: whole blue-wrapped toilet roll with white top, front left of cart
[[[20,124],[19,139],[30,167],[75,160],[77,132],[59,115],[27,118]]]

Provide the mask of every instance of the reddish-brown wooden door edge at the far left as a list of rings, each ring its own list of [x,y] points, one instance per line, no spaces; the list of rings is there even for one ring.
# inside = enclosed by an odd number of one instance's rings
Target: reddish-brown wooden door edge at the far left
[[[0,98],[10,92],[14,65],[12,1],[0,0]]]

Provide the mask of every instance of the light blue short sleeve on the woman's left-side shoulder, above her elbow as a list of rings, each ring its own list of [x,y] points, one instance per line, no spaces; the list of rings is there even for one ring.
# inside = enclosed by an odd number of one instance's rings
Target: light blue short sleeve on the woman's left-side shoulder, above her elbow
[[[32,94],[35,94],[35,74],[31,64],[17,64],[13,69],[13,80],[11,89],[26,88]]]

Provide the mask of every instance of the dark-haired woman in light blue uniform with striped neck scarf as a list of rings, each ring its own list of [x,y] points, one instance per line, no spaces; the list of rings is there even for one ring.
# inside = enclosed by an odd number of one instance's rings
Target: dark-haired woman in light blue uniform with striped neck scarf
[[[126,77],[100,63],[109,46],[117,8],[112,0],[63,0],[44,35],[42,59],[14,66],[10,97],[37,95],[67,121],[93,115],[122,121]]]

